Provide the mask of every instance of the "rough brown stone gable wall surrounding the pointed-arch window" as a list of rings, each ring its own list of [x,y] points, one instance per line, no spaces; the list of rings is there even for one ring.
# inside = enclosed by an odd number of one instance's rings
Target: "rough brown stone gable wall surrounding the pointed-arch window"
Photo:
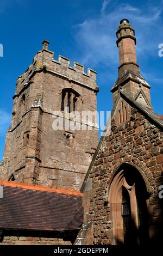
[[[83,196],[83,205],[87,205],[84,222],[93,223],[93,243],[114,243],[109,189],[122,163],[135,166],[147,184],[150,195],[149,234],[154,239],[160,234],[162,224],[162,201],[158,196],[158,187],[163,184],[163,132],[152,120],[147,120],[142,113],[132,108],[130,120],[126,124],[117,127],[112,121],[111,134],[104,138],[104,142],[105,149],[98,151],[89,175],[92,189],[90,186]]]

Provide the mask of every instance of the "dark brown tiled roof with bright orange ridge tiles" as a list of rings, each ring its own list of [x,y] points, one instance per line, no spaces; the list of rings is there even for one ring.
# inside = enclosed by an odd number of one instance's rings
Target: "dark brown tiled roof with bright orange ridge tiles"
[[[53,188],[46,191],[45,187],[41,190],[41,186],[28,188],[15,184],[0,182],[3,186],[0,228],[64,231],[68,230],[69,223],[73,229],[79,229],[83,224],[82,194],[79,192],[73,194],[73,191]]]

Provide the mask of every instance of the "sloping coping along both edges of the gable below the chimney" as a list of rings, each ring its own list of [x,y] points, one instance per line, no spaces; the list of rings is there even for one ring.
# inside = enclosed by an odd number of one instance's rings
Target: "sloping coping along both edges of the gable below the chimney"
[[[114,109],[112,109],[111,119],[114,115],[114,112],[115,112],[115,109],[116,109],[116,106],[117,106],[117,103],[118,103],[118,100],[120,99],[120,97],[123,97],[124,100],[126,100],[128,103],[130,103],[130,105],[134,106],[136,109],[139,109],[139,111],[141,111],[146,117],[148,117],[149,120],[151,120],[156,126],[159,126],[159,128],[161,130],[163,130],[163,120],[161,118],[157,117],[153,112],[151,112],[148,107],[145,107],[145,106],[141,105],[139,102],[135,101],[134,99],[132,99],[131,97],[129,97],[128,95],[123,93],[121,89],[119,90],[119,94],[118,94],[117,100],[115,102],[115,107],[114,107]],[[110,122],[110,120],[109,120],[109,122]],[[93,158],[92,158],[92,161],[90,163],[89,169],[87,170],[87,173],[85,175],[85,179],[84,179],[82,187],[80,189],[81,192],[84,192],[86,181],[87,181],[87,179],[89,179],[89,175],[90,175],[91,169],[93,167],[93,164],[96,160],[98,151],[101,148],[101,145],[102,145],[102,143],[104,141],[104,138],[107,134],[107,129],[108,129],[108,126],[109,126],[109,122],[107,123],[107,125],[104,129],[104,132],[103,132],[103,135],[102,135],[101,139],[99,140],[97,149],[95,151],[95,154],[93,155]]]

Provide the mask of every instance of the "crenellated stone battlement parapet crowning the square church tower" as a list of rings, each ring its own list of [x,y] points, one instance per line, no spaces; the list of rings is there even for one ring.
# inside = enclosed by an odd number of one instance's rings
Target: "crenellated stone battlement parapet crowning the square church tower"
[[[22,85],[26,86],[26,84],[28,84],[35,72],[46,70],[46,72],[52,75],[61,76],[70,82],[83,84],[98,92],[96,71],[88,68],[85,72],[84,65],[78,62],[73,62],[73,66],[70,66],[70,59],[61,55],[59,55],[58,60],[56,60],[54,59],[54,52],[48,50],[49,42],[43,40],[42,44],[43,48],[36,53],[33,63],[17,78],[17,84],[20,85],[18,86],[20,89]]]

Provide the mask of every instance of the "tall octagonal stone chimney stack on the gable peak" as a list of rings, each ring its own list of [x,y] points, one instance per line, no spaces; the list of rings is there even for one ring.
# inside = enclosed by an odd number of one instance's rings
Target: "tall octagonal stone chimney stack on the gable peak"
[[[111,88],[114,106],[122,97],[122,94],[130,97],[134,102],[139,102],[142,106],[152,110],[150,88],[151,86],[141,76],[139,65],[136,60],[136,38],[134,28],[127,19],[120,21],[117,32],[117,47],[120,56],[120,66],[118,67],[118,79]],[[120,105],[123,105],[124,102]],[[127,107],[127,106],[126,106]],[[119,108],[121,113],[122,107]],[[121,118],[123,120],[123,118]]]

